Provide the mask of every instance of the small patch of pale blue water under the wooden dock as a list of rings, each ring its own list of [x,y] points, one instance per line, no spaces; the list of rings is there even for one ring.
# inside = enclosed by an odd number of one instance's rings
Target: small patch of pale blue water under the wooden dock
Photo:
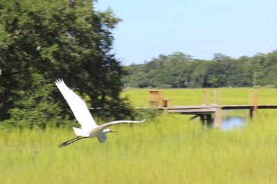
[[[222,130],[232,130],[234,128],[240,129],[244,126],[245,119],[238,116],[229,116],[222,119]]]

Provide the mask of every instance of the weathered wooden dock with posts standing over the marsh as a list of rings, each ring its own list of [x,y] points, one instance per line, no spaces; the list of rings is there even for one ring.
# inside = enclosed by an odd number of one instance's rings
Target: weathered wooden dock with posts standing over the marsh
[[[214,122],[215,127],[220,128],[222,110],[249,110],[249,116],[252,118],[257,115],[258,109],[277,109],[277,105],[258,105],[258,92],[256,89],[249,91],[249,105],[222,105],[221,90],[214,90],[214,104],[211,104],[209,99],[209,92],[203,90],[204,105],[171,106],[171,100],[163,99],[161,91],[150,90],[150,105],[154,105],[159,110],[163,110],[167,113],[194,115],[191,119],[199,117],[205,127],[211,126]]]

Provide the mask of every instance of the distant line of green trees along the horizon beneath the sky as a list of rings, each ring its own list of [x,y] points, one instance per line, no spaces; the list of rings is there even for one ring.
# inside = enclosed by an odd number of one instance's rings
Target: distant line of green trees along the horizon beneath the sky
[[[238,59],[214,54],[211,61],[175,52],[125,70],[126,88],[277,88],[277,50]]]

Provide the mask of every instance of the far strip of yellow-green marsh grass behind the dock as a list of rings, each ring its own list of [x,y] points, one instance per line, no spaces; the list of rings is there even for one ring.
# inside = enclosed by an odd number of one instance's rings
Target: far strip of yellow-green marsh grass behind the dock
[[[206,89],[209,93],[209,102],[214,103],[214,92],[218,89]],[[249,104],[249,92],[251,88],[222,88],[222,104]],[[277,89],[258,89],[259,104],[277,104]],[[164,99],[171,99],[172,105],[201,105],[204,103],[203,89],[175,89],[162,90]],[[149,105],[149,90],[130,89],[122,94],[128,96],[134,106]],[[252,98],[251,98],[252,99]]]

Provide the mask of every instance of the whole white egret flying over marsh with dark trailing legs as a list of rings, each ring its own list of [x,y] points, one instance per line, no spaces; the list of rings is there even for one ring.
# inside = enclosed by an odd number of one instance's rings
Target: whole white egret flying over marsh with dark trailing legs
[[[69,104],[69,107],[71,108],[75,116],[75,119],[77,119],[78,123],[80,123],[81,125],[81,128],[73,127],[73,130],[77,135],[75,138],[60,143],[58,147],[64,147],[66,145],[74,143],[75,141],[79,141],[80,139],[93,138],[96,136],[100,143],[104,143],[107,139],[107,133],[118,132],[116,130],[106,129],[106,127],[120,123],[143,123],[146,120],[145,119],[143,121],[111,121],[103,125],[97,125],[93,117],[91,116],[91,113],[89,112],[86,103],[84,103],[84,101],[77,94],[70,90],[62,79],[58,79],[57,81],[55,81],[55,84],[62,93],[62,96],[64,96],[64,99],[66,99],[66,102]]]

